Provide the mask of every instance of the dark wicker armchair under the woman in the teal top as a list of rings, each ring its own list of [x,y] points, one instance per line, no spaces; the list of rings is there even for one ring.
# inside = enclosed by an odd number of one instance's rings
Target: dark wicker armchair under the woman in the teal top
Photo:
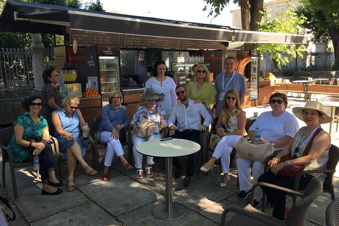
[[[3,153],[3,162],[2,162],[2,170],[3,170],[3,186],[6,187],[6,172],[5,172],[5,165],[6,163],[10,164],[10,170],[11,170],[11,176],[12,176],[12,184],[13,184],[13,192],[14,192],[14,200],[18,201],[18,188],[16,184],[16,177],[15,177],[15,168],[24,168],[29,167],[33,163],[17,163],[13,161],[12,158],[12,152],[8,148],[8,144],[11,141],[14,134],[14,127],[8,127],[5,129],[0,130],[0,148],[2,149]],[[59,152],[59,146],[58,141],[56,138],[52,137],[51,140],[53,141],[52,144],[52,150],[54,154],[54,162],[56,166],[56,174],[58,176],[58,179],[60,182],[62,182],[62,174],[61,174],[61,164],[60,164],[60,152]],[[39,177],[39,173],[37,173],[37,177]]]

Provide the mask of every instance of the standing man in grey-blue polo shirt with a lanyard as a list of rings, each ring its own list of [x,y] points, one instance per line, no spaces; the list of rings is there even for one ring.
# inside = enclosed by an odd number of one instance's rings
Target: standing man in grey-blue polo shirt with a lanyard
[[[223,99],[227,91],[235,90],[239,94],[241,108],[244,107],[245,93],[248,92],[245,77],[235,71],[236,59],[234,57],[228,57],[225,59],[223,65],[225,71],[217,75],[214,83],[214,87],[216,90],[216,109],[214,125],[216,124],[220,116]]]

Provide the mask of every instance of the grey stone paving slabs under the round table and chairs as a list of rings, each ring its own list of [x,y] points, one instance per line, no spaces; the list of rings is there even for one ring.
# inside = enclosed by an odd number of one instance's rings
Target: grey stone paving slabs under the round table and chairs
[[[293,106],[305,103],[290,101],[288,111]],[[246,108],[247,117],[270,110],[269,105]],[[300,121],[300,125],[303,122]],[[323,128],[328,131],[328,125]],[[332,143],[339,145],[338,133],[334,132]],[[117,158],[116,158],[117,159]],[[183,188],[181,179],[173,179],[173,199],[187,208],[187,214],[175,221],[164,221],[153,217],[152,208],[165,201],[165,172],[160,160],[154,165],[152,178],[138,180],[135,170],[127,172],[122,164],[114,162],[110,169],[111,179],[107,182],[100,176],[87,176],[80,167],[76,168],[77,189],[57,196],[42,196],[41,181],[34,178],[32,167],[16,170],[19,200],[14,202],[9,167],[6,167],[7,187],[2,187],[2,196],[10,198],[17,213],[17,219],[10,225],[219,225],[225,207],[236,205],[243,208],[247,201],[236,198],[236,168],[232,168],[231,181],[227,187],[219,187],[221,171],[214,167],[208,177],[193,177],[190,186]],[[67,175],[65,162],[62,163],[63,176]],[[101,167],[103,169],[103,167]],[[185,169],[185,167],[184,167]],[[66,180],[63,181],[66,183]],[[336,197],[339,195],[339,178],[335,178]],[[307,225],[325,225],[325,210],[330,202],[328,194],[321,194],[311,205]],[[271,214],[272,209],[266,212]]]

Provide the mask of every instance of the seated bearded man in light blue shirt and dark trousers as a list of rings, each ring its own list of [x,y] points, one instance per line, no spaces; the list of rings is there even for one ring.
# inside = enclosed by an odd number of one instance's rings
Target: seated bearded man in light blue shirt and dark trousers
[[[180,103],[174,105],[168,120],[168,127],[176,131],[171,137],[199,143],[200,131],[205,131],[208,128],[213,121],[212,117],[204,104],[194,103],[194,100],[187,98],[185,87],[178,85],[175,88],[175,93]],[[201,117],[204,118],[203,125],[201,125]],[[177,125],[174,125],[175,121],[177,121]],[[196,168],[197,157],[198,153],[189,155],[186,176],[183,178],[184,187],[188,186],[191,182],[191,176]],[[181,176],[182,165],[178,158],[173,158],[173,163],[175,165],[174,176],[179,178]]]

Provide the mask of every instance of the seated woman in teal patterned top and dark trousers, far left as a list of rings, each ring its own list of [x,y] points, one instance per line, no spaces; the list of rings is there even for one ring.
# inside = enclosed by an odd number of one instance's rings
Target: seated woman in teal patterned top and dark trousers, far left
[[[39,115],[43,106],[40,96],[30,96],[25,103],[26,112],[13,123],[14,135],[8,147],[12,152],[14,162],[33,162],[34,156],[40,158],[40,173],[43,182],[43,195],[57,195],[62,189],[55,186],[63,184],[55,177],[54,155],[50,144],[30,142],[27,137],[42,137],[49,140],[48,124],[44,117]]]

